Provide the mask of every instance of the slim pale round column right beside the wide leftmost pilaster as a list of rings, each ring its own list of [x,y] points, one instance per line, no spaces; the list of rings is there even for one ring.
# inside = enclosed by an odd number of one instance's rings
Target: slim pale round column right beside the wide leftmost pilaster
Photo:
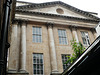
[[[26,23],[22,23],[22,36],[21,36],[21,69],[26,70]]]

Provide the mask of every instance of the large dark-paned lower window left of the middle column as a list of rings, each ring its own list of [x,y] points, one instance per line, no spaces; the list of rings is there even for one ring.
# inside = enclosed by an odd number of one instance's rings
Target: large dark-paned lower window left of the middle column
[[[33,75],[44,75],[43,54],[33,54]]]

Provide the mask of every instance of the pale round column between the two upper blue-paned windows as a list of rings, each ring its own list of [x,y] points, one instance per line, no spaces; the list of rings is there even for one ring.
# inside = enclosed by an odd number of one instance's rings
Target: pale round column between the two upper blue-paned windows
[[[56,59],[56,50],[55,50],[53,30],[52,30],[51,24],[48,24],[48,34],[49,34],[50,58],[51,58],[52,73],[56,73],[56,72],[58,72],[58,70],[57,70],[57,59]]]

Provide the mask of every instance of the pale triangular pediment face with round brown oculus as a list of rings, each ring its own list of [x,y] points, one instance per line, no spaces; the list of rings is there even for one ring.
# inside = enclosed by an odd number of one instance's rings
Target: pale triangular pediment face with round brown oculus
[[[63,15],[63,16],[70,16],[70,17],[78,17],[78,18],[87,18],[85,16],[82,16],[78,13],[75,13],[67,8],[64,8],[60,5],[45,7],[45,8],[39,8],[39,9],[31,9],[28,11],[33,12],[42,12],[42,13],[48,13],[48,14],[56,14],[56,15]]]

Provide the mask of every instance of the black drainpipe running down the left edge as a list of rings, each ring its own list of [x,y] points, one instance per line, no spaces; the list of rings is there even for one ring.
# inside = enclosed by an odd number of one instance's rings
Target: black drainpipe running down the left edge
[[[4,16],[2,22],[1,39],[0,39],[0,75],[6,75],[7,50],[10,47],[8,43],[8,26],[10,24],[10,8],[12,0],[6,0]]]

